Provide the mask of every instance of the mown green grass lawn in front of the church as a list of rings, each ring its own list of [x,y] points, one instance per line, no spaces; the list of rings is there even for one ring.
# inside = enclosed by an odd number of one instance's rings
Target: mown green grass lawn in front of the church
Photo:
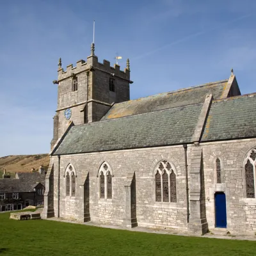
[[[0,255],[256,255],[256,242],[147,234],[0,214]]]

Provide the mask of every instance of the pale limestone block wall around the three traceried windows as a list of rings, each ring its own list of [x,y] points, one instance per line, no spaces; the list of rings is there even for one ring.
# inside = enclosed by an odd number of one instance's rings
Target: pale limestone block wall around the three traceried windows
[[[166,159],[177,172],[177,203],[156,202],[154,171],[159,161]],[[58,161],[58,157],[54,157]],[[112,199],[99,194],[99,168],[106,161],[113,172]],[[72,163],[77,173],[76,198],[65,196],[65,168]],[[54,164],[58,166],[58,164]],[[119,150],[60,157],[60,217],[79,218],[81,189],[90,173],[90,218],[96,223],[122,225],[125,216],[125,182],[129,173],[136,173],[136,218],[141,227],[169,227],[186,230],[186,179],[184,148],[159,147],[138,150]],[[54,168],[54,179],[58,169]],[[54,211],[58,211],[58,180],[54,180]],[[80,200],[80,201],[79,201]]]

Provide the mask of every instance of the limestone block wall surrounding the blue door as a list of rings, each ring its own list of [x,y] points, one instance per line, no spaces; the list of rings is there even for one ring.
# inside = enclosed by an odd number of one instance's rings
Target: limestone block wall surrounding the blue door
[[[202,143],[204,154],[205,202],[209,229],[215,227],[214,193],[221,191],[227,201],[227,230],[255,233],[256,198],[246,198],[244,157],[256,146],[256,139]],[[216,178],[216,158],[221,163],[221,183]]]

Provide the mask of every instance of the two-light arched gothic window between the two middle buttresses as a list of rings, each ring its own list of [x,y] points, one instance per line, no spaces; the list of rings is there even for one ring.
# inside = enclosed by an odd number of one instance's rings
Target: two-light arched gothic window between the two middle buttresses
[[[99,170],[99,193],[100,198],[112,198],[112,181],[113,174],[108,163],[104,162]]]

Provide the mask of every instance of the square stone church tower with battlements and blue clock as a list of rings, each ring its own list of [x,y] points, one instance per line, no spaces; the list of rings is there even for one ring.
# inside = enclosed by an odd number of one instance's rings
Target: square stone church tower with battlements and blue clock
[[[114,103],[130,99],[130,64],[120,70],[119,65],[110,66],[109,61],[98,62],[91,45],[87,61],[79,60],[76,67],[68,65],[64,71],[61,58],[58,64],[58,105],[54,115],[51,148],[66,131],[68,124],[86,124],[99,121]]]

